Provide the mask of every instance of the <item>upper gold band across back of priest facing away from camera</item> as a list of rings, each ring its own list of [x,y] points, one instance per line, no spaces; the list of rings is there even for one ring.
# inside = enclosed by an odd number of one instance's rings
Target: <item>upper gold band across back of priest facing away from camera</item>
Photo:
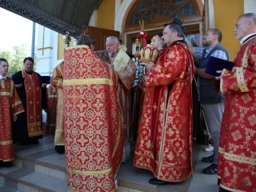
[[[86,78],[86,79],[70,79],[63,80],[65,86],[84,86],[84,85],[98,85],[106,84],[113,86],[113,82],[110,78]]]

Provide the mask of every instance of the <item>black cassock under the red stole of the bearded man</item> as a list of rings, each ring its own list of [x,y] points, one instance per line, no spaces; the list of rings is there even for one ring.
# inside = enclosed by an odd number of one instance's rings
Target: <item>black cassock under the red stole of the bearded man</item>
[[[34,72],[35,73],[35,72]],[[26,72],[26,74],[32,74],[29,72]],[[42,82],[41,82],[41,75],[36,73],[38,75],[39,83],[40,83],[40,88],[42,91],[42,101],[41,101],[41,106],[42,109],[46,109],[46,89],[42,89]],[[22,71],[18,71],[12,76],[12,79],[14,80],[14,77],[17,78],[21,77],[22,78]],[[15,82],[15,80],[14,80]],[[15,83],[17,84],[17,83]],[[26,109],[26,89],[24,86],[24,82],[22,83],[22,87],[16,88],[18,92],[18,96],[22,101],[22,106],[24,107],[25,113],[18,114],[18,119],[16,122],[13,123],[13,140],[14,143],[18,142],[23,145],[28,145],[28,144],[35,144],[38,143],[38,139],[43,137],[43,134],[35,136],[35,137],[29,137],[28,134],[28,126],[27,126],[27,109]],[[42,112],[41,112],[41,127],[42,127]]]

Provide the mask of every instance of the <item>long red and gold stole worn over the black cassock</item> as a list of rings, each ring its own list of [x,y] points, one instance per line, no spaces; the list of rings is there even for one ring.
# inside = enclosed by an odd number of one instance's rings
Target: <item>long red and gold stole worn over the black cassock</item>
[[[26,117],[27,129],[30,138],[42,135],[41,114],[42,114],[42,92],[38,75],[36,73],[26,74],[22,70],[22,77],[26,89]]]

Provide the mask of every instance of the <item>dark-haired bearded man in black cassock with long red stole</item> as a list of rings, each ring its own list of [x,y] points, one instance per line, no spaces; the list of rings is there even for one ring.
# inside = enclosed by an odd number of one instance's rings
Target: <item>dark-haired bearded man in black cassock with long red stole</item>
[[[38,144],[42,138],[42,109],[46,106],[46,83],[42,83],[41,75],[34,71],[34,59],[25,58],[23,70],[15,73],[12,78],[23,79],[15,83],[18,96],[22,101],[25,113],[18,114],[13,126],[13,138],[20,145]]]

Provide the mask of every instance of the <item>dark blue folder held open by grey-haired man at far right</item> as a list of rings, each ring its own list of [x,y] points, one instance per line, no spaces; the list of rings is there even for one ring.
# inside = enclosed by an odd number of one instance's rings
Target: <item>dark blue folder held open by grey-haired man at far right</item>
[[[221,74],[218,74],[216,71],[217,70],[232,70],[234,66],[234,62],[226,61],[222,58],[215,58],[210,56],[208,58],[208,62],[206,65],[206,74],[213,75],[215,77],[220,76]]]

